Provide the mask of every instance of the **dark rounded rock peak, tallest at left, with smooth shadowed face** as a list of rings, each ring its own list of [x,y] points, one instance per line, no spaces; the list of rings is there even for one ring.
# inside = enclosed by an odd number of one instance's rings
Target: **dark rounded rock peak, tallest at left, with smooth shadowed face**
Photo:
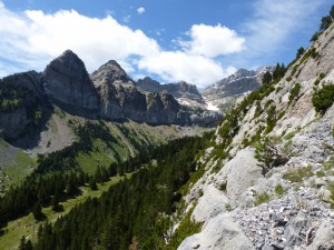
[[[97,111],[99,97],[84,62],[72,51],[65,51],[46,68],[43,86],[51,99],[68,109]]]

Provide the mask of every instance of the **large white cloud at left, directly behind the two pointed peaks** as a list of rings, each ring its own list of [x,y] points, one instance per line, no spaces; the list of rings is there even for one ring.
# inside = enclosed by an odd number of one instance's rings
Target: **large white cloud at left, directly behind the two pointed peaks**
[[[143,57],[160,50],[141,30],[121,26],[110,16],[96,19],[73,10],[53,14],[42,11],[14,13],[2,4],[0,37],[0,57],[14,60],[22,70],[41,70],[67,49],[78,53],[89,71],[110,59],[125,61],[134,54]]]

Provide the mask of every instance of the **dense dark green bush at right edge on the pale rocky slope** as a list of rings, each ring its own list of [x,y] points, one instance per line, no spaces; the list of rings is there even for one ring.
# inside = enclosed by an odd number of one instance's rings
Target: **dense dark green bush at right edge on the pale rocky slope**
[[[315,111],[324,113],[334,102],[334,84],[325,84],[313,92],[312,103]]]

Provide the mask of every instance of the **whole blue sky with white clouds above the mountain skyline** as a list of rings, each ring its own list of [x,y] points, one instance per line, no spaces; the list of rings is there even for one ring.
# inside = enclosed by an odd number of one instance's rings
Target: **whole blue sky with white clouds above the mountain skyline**
[[[284,62],[307,47],[331,0],[0,0],[0,78],[66,49],[89,72],[110,59],[135,79],[198,88]]]

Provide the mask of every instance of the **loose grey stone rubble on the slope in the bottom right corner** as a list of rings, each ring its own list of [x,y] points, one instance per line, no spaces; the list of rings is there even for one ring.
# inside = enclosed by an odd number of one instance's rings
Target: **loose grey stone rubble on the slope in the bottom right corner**
[[[268,203],[236,210],[232,218],[256,249],[305,249],[322,221],[330,220],[334,230],[333,213],[317,199],[317,190],[301,188]]]

